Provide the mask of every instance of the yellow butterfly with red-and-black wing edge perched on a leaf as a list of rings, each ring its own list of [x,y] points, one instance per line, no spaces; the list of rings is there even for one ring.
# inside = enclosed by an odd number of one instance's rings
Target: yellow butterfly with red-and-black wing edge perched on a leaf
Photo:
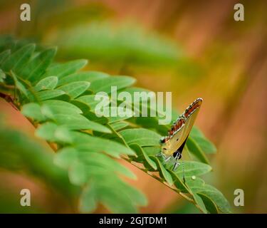
[[[178,160],[182,157],[184,145],[187,142],[189,133],[197,118],[202,101],[202,98],[194,100],[194,102],[184,110],[184,113],[174,121],[171,129],[168,131],[168,135],[160,139],[162,151],[159,154],[164,157],[164,162],[174,157],[175,163],[172,171],[176,170],[180,165]]]

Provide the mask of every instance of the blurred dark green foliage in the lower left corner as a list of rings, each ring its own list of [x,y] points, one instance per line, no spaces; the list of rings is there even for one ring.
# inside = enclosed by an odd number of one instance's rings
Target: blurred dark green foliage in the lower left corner
[[[54,164],[55,154],[36,140],[11,129],[4,123],[4,117],[0,121],[0,167],[44,182],[51,190],[59,192],[69,204],[73,204],[80,190],[69,182],[68,172]],[[9,192],[4,185],[5,182],[1,182],[1,213],[45,212],[38,204],[21,207],[19,192]]]

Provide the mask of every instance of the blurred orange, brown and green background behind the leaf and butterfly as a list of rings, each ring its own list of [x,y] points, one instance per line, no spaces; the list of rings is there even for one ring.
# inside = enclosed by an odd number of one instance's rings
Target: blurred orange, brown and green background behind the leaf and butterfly
[[[19,20],[22,3],[31,5],[31,21]],[[234,21],[236,3],[244,4],[245,21]],[[58,46],[58,61],[88,58],[90,70],[134,76],[137,86],[172,91],[177,110],[204,98],[197,125],[218,148],[209,157],[209,182],[234,212],[267,213],[266,9],[264,0],[0,1],[0,34]],[[33,127],[11,105],[0,100],[0,110],[7,124],[33,137]],[[125,165],[138,177],[132,185],[149,199],[141,212],[198,212]],[[0,212],[20,212],[11,204],[25,186],[33,192],[32,212],[75,212],[34,177],[0,170],[0,180]],[[234,206],[236,189],[244,190],[244,207]]]

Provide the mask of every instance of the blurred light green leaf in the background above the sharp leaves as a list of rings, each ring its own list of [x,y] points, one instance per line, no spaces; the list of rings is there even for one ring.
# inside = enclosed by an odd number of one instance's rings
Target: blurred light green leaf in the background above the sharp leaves
[[[84,56],[110,63],[173,67],[183,56],[172,41],[153,33],[147,34],[135,24],[116,27],[110,22],[92,22],[69,28],[46,41],[60,43],[59,54],[64,58]]]

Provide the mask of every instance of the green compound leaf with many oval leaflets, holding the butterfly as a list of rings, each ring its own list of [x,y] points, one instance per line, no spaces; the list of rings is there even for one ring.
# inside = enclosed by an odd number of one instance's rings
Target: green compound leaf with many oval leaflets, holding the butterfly
[[[77,188],[72,197],[75,200],[79,197],[80,212],[93,212],[98,204],[111,212],[137,212],[138,206],[147,204],[139,190],[120,179],[120,176],[135,178],[117,160],[120,158],[135,163],[144,172],[173,188],[201,212],[231,212],[224,195],[200,178],[211,171],[206,154],[216,152],[216,147],[200,130],[192,129],[186,145],[190,154],[200,162],[184,161],[184,170],[180,165],[172,171],[174,159],[163,162],[158,156],[161,152],[159,139],[169,130],[169,125],[159,125],[161,115],[147,118],[98,116],[101,99],[107,99],[110,113],[111,106],[114,106],[112,111],[124,110],[121,105],[125,100],[119,97],[110,101],[111,92],[130,95],[150,92],[132,87],[134,78],[109,76],[97,71],[78,72],[87,61],[56,63],[53,61],[56,48],[35,48],[34,44],[25,45],[25,42],[0,38],[0,49],[0,81],[16,88],[11,94],[16,92],[16,105],[21,113],[38,126],[36,135],[56,150],[54,162],[68,171],[69,189],[71,184]],[[111,86],[117,91],[111,90]],[[142,108],[148,108],[150,113],[147,100],[150,100],[148,96],[139,107],[141,113],[145,111]],[[135,105],[126,108],[137,112]],[[175,120],[178,114],[174,110],[172,113]],[[6,148],[13,147],[9,145]],[[39,162],[40,159],[27,164],[38,170]]]

